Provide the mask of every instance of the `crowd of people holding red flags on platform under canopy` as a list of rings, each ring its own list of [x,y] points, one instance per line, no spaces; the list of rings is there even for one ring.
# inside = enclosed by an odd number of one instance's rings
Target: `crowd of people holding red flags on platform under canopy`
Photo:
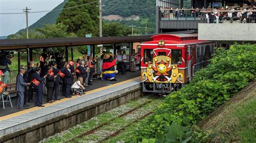
[[[133,50],[130,56],[131,61],[129,62],[125,51],[118,51],[117,55],[103,52],[100,56],[100,61],[103,61],[104,65],[104,62],[107,62],[106,60],[112,58],[111,62],[114,63],[114,65],[109,65],[109,67],[117,65],[118,74],[125,75],[126,66],[130,65],[130,63],[131,71],[136,71],[137,53],[135,50]],[[96,58],[85,54],[83,58],[77,59],[75,63],[72,60],[65,62],[59,55],[55,55],[55,57],[43,53],[39,63],[35,64],[33,61],[29,61],[28,67],[23,65],[19,67],[19,73],[16,77],[18,110],[28,109],[29,105],[27,105],[26,102],[34,103],[35,106],[38,107],[43,107],[43,96],[47,96],[48,103],[60,100],[60,94],[66,98],[71,98],[72,95],[81,96],[85,94],[86,87],[92,85],[92,76],[93,73],[95,73],[95,66],[98,62]],[[8,58],[0,60],[0,65],[3,65],[2,67],[0,66],[0,68],[2,68],[0,72],[2,71],[3,73],[0,83],[2,91],[0,89],[0,92],[5,95],[9,94],[5,91],[6,86],[4,87],[4,85],[8,83],[8,75],[10,72],[8,65],[10,64],[11,60]],[[104,72],[109,69],[102,70],[102,72]],[[115,69],[113,73],[114,72]],[[114,75],[111,78],[113,80]],[[106,74],[101,77],[101,79],[107,80],[109,79],[109,75]],[[62,93],[60,93],[61,87]]]

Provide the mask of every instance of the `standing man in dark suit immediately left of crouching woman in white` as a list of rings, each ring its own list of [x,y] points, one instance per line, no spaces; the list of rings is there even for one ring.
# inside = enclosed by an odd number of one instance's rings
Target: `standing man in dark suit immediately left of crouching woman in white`
[[[70,67],[69,67],[69,63],[66,63],[65,65],[65,69],[63,71],[63,73],[65,74],[64,78],[65,78],[65,84],[66,84],[66,93],[65,93],[65,96],[66,98],[71,98],[71,95],[70,95],[70,90],[71,90],[71,86],[73,84],[73,78],[72,78],[72,74],[71,74],[71,70],[70,70]],[[65,89],[63,89],[65,90]]]

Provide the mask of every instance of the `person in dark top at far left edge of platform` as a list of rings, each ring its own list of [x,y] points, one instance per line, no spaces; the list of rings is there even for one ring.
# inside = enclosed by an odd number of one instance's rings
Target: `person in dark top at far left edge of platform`
[[[4,73],[3,82],[6,84],[8,83],[10,76],[10,69],[8,65],[11,65],[10,59],[13,57],[13,52],[9,53],[6,51],[2,51],[0,54],[0,70],[2,70]],[[3,91],[3,94],[8,94],[8,92],[6,92],[5,89],[3,89]]]

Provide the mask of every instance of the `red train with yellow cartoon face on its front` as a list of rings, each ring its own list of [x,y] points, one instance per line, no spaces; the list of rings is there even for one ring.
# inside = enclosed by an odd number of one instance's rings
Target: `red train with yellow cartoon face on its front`
[[[144,92],[170,93],[191,81],[207,65],[214,42],[197,40],[197,34],[160,34],[141,47]]]

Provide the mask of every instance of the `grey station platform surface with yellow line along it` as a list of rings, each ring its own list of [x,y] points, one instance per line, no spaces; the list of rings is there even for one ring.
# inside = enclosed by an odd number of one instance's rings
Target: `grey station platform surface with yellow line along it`
[[[46,97],[44,97],[44,108],[32,107],[31,105],[30,109],[19,111],[16,109],[16,104],[14,103],[13,109],[9,107],[5,109],[6,111],[13,110],[9,111],[9,113],[11,113],[9,115],[3,113],[5,112],[5,110],[1,109],[1,115],[6,116],[0,117],[0,142],[5,141],[6,138],[14,138],[14,132],[17,132],[17,134],[22,134],[19,132],[23,132],[24,135],[25,130],[28,130],[28,128],[30,127],[38,126],[45,121],[49,122],[49,120],[51,119],[56,120],[56,118],[58,118],[59,116],[65,116],[65,114],[67,113],[75,112],[76,110],[83,109],[86,106],[90,106],[101,101],[106,101],[107,99],[113,98],[114,96],[123,93],[131,93],[131,91],[134,89],[138,90],[141,88],[141,81],[139,75],[139,71],[137,71],[136,73],[127,72],[126,75],[117,75],[116,82],[102,81],[99,79],[93,80],[93,85],[88,87],[86,94],[81,97],[72,96],[72,98],[63,98],[60,101],[56,101],[54,103],[46,103]],[[103,112],[101,110],[102,109],[95,112]],[[66,126],[69,127],[70,125]],[[55,130],[55,128],[53,130]],[[57,133],[57,131],[54,132]],[[42,138],[48,135],[42,135]],[[25,139],[25,141],[29,140]]]

